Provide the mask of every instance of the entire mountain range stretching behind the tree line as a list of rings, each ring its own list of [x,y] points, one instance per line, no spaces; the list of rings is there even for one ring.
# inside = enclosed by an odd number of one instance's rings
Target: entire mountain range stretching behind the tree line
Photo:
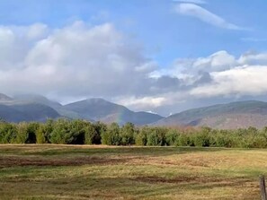
[[[134,112],[119,104],[100,98],[62,105],[40,95],[18,95],[13,98],[0,93],[0,118],[9,122],[40,121],[48,118],[82,118],[137,126],[210,126],[242,128],[267,126],[267,102],[247,100],[189,109],[169,117],[150,112]]]

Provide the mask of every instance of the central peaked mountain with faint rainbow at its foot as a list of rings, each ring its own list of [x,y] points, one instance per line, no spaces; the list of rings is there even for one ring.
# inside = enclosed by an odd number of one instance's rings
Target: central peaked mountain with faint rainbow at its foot
[[[146,112],[133,112],[126,107],[99,98],[81,100],[67,104],[65,109],[79,113],[85,119],[105,123],[118,122],[120,125],[131,122],[136,125],[146,125],[163,118]]]

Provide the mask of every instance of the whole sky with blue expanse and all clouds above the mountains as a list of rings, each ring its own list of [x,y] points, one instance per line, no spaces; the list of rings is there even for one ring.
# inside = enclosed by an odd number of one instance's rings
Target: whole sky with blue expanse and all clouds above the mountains
[[[265,0],[0,0],[0,91],[163,116],[267,100]]]

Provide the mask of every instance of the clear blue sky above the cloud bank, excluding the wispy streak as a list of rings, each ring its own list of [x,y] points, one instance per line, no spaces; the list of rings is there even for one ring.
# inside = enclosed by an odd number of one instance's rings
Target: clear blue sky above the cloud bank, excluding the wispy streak
[[[206,57],[225,49],[234,55],[266,50],[267,4],[264,0],[209,0],[200,4],[227,22],[248,30],[227,30],[174,12],[169,0],[1,0],[0,23],[46,23],[62,27],[83,20],[92,24],[112,22],[144,43],[147,54],[161,65],[175,57]],[[261,42],[255,39],[263,39]]]

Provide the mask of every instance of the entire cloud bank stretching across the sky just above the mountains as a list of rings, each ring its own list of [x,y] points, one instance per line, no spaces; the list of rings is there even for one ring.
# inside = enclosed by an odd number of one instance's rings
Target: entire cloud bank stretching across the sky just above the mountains
[[[0,91],[56,100],[102,97],[167,115],[216,98],[267,94],[267,53],[176,58],[160,67],[111,23],[0,27]]]

